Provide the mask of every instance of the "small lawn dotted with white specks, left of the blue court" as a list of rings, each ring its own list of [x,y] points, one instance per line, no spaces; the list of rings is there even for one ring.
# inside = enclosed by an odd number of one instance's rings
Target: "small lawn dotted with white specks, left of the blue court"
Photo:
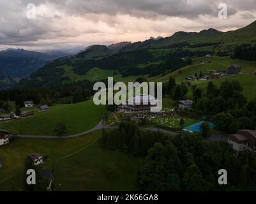
[[[184,126],[189,126],[190,124],[194,124],[199,122],[200,120],[190,119],[183,117],[184,119]],[[167,128],[180,128],[179,121],[181,117],[171,117],[171,116],[163,116],[163,117],[151,117],[149,122],[153,122],[156,125],[165,126]]]

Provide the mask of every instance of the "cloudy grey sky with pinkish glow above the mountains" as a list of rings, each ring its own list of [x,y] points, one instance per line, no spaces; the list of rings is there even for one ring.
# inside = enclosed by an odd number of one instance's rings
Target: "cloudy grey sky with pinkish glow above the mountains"
[[[227,19],[218,18],[220,3],[228,6]],[[0,50],[68,50],[209,27],[229,31],[254,20],[256,0],[0,0]]]

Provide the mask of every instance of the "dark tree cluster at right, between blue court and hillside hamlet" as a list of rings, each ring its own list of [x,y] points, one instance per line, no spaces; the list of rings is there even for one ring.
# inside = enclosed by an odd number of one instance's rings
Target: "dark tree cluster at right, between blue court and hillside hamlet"
[[[199,77],[202,73],[199,74]],[[237,80],[225,80],[217,87],[208,82],[207,89],[192,85],[193,106],[190,111],[206,117],[216,128],[226,133],[236,133],[238,129],[256,129],[256,99],[248,101],[243,95],[243,87]],[[176,84],[175,78],[163,84],[163,94],[174,100],[186,99],[188,86]]]

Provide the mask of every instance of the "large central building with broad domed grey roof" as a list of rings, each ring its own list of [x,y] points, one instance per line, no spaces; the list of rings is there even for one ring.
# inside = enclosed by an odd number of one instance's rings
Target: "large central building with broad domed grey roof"
[[[126,110],[132,111],[141,111],[146,110],[150,111],[151,107],[156,107],[158,103],[158,99],[154,98],[150,95],[140,94],[137,96],[132,96],[126,101],[126,105],[124,108]]]

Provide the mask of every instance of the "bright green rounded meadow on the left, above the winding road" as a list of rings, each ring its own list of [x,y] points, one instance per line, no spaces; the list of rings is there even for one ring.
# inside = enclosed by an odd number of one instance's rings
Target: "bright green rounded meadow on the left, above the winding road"
[[[66,135],[72,135],[96,126],[104,111],[105,106],[96,106],[93,101],[56,105],[46,112],[36,112],[33,117],[0,122],[0,128],[20,135],[56,135],[56,123],[65,122],[68,129]]]

